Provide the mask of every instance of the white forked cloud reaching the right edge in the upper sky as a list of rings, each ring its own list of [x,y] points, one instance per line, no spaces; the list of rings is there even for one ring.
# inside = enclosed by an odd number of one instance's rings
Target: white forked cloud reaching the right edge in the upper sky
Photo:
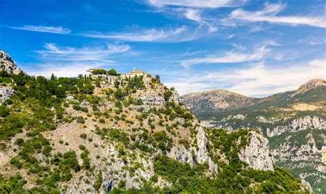
[[[276,16],[285,8],[282,3],[265,3],[261,11],[248,12],[243,9],[237,9],[222,19],[224,25],[242,25],[251,22],[268,22],[279,25],[309,25],[314,27],[326,27],[324,15],[320,16]]]

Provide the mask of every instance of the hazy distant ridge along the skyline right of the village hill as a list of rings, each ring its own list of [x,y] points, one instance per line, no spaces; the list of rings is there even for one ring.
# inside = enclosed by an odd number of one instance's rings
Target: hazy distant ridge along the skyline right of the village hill
[[[197,115],[200,112],[224,112],[241,108],[257,109],[270,106],[289,106],[298,102],[325,100],[326,80],[309,80],[298,90],[278,93],[269,97],[246,97],[228,90],[206,90],[184,95],[184,104]],[[204,118],[203,118],[204,119]]]

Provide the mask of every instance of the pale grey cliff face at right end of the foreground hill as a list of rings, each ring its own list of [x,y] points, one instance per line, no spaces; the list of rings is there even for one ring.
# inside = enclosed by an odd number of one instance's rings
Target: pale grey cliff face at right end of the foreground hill
[[[240,160],[247,162],[249,167],[263,171],[274,171],[274,159],[268,148],[268,139],[257,132],[250,132],[250,143],[238,154]]]

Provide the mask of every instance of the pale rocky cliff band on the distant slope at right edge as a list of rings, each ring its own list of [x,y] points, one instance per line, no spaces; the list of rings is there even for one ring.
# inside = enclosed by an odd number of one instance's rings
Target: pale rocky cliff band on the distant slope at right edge
[[[299,119],[294,119],[287,125],[277,126],[273,130],[267,129],[266,133],[269,137],[280,135],[283,132],[297,132],[307,129],[322,130],[326,129],[326,121],[314,115],[307,115]]]

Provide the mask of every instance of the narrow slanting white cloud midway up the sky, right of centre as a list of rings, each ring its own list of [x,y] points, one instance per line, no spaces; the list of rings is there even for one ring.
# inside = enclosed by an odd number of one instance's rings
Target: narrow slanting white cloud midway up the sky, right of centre
[[[268,49],[265,45],[254,49],[253,51],[229,51],[224,55],[210,55],[203,58],[191,58],[186,60],[181,60],[180,64],[186,68],[193,64],[218,64],[218,63],[237,63],[237,62],[246,62],[246,61],[255,61],[263,59]]]

